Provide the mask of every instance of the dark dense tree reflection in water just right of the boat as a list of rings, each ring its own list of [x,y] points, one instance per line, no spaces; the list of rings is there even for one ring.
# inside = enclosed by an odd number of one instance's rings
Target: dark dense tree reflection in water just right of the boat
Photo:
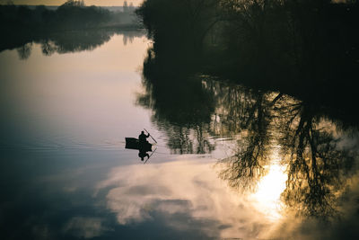
[[[153,122],[167,133],[168,146],[176,154],[206,154],[215,149],[208,128],[215,109],[212,93],[197,77],[188,77],[175,63],[153,58],[149,49],[144,61],[145,93],[137,103],[153,110]],[[159,71],[159,68],[166,71]]]

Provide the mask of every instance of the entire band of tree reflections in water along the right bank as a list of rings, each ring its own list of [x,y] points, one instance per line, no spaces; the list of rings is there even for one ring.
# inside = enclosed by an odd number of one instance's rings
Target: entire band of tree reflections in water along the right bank
[[[145,92],[137,103],[153,111],[153,122],[166,132],[173,153],[210,153],[213,137],[235,139],[234,154],[219,161],[220,177],[244,191],[256,190],[278,154],[287,167],[281,200],[288,209],[321,219],[337,216],[354,156],[340,147],[346,131],[336,121],[282,93],[188,77],[172,64],[163,64],[149,50]]]

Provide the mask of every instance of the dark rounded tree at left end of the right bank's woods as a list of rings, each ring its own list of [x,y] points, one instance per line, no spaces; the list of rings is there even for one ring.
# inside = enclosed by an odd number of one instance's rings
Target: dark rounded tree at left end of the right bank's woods
[[[221,20],[219,2],[148,0],[136,13],[154,40],[156,52],[176,45],[182,54],[194,56],[202,51],[208,31]],[[169,39],[172,42],[168,42]]]

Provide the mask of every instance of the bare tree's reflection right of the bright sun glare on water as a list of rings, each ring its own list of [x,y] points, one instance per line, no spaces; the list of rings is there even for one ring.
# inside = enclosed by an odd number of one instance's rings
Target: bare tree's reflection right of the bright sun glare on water
[[[353,156],[338,147],[335,124],[316,114],[310,105],[282,104],[278,111],[282,115],[279,142],[288,164],[282,199],[288,207],[307,216],[335,216]]]

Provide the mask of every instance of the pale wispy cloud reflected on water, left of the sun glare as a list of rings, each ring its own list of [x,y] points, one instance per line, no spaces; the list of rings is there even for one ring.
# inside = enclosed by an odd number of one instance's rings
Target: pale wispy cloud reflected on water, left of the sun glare
[[[120,166],[100,182],[109,190],[107,206],[120,225],[166,218],[167,227],[196,225],[208,237],[265,237],[273,224],[248,196],[232,191],[211,164],[178,161]],[[184,216],[187,216],[184,218]]]

